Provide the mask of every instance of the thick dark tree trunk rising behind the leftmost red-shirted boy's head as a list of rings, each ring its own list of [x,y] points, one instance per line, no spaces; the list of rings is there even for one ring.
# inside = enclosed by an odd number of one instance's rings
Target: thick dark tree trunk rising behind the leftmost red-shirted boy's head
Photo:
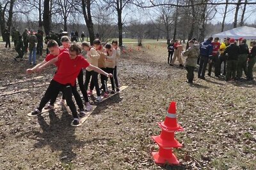
[[[44,0],[43,25],[46,35],[49,35],[49,32],[51,31],[50,1],[51,0]]]

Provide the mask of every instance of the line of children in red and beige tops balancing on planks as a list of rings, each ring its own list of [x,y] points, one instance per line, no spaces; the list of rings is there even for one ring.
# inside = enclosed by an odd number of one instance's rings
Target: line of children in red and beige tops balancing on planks
[[[95,39],[93,41],[93,46],[86,41],[79,46],[75,42],[70,43],[70,38],[67,36],[61,38],[61,44],[62,46],[58,46],[58,43],[55,40],[49,40],[47,43],[49,54],[45,57],[45,60],[35,67],[27,69],[27,73],[33,73],[42,70],[50,64],[55,64],[57,67],[54,77],[52,78],[44,97],[42,97],[38,108],[32,111],[31,114],[40,114],[44,107],[45,109],[53,108],[56,98],[61,91],[63,92],[63,96],[60,104],[67,101],[67,105],[74,117],[73,124],[77,125],[79,124],[79,117],[84,117],[85,111],[92,110],[88,95],[92,95],[94,87],[97,92],[96,102],[102,100],[102,94],[103,97],[108,97],[109,92],[115,94],[115,92],[120,91],[117,78],[117,64],[118,59],[120,58],[120,49],[118,48],[117,41],[113,41],[111,44],[103,46],[99,39]],[[86,59],[81,55],[82,50],[87,52]],[[83,81],[83,69],[86,69],[85,81]],[[99,87],[98,83],[98,73],[100,73],[101,87]],[[83,94],[85,109],[81,96],[76,89],[76,78]],[[110,91],[108,90],[107,85],[108,78],[111,80],[112,90]],[[90,90],[86,92],[89,83]],[[103,90],[102,93],[100,92],[100,89]],[[72,101],[72,94],[79,107],[79,114],[77,114],[76,106]]]

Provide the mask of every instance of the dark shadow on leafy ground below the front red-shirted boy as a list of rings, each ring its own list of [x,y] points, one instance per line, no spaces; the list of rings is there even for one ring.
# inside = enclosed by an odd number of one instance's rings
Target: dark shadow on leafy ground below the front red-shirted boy
[[[55,112],[49,111],[50,122],[47,124],[45,118],[42,115],[38,116],[38,123],[43,132],[36,132],[35,139],[38,141],[35,143],[35,148],[44,148],[49,146],[51,151],[61,151],[61,162],[69,162],[76,158],[76,153],[72,150],[74,148],[82,148],[84,146],[83,141],[79,141],[75,136],[75,127],[71,127],[72,115],[68,114],[65,106],[62,106],[62,115],[57,117]]]

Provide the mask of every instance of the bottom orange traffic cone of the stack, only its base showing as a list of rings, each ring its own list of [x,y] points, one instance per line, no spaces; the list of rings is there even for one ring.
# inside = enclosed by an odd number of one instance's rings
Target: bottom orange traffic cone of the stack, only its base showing
[[[166,150],[160,147],[158,152],[152,152],[152,156],[154,157],[156,164],[165,164],[166,162],[175,165],[179,164],[179,161],[172,153],[172,150]]]

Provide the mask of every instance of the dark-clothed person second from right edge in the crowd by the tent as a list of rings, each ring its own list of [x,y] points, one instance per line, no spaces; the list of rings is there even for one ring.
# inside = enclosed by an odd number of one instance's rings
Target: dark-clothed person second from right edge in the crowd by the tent
[[[244,74],[247,75],[247,58],[250,54],[248,45],[246,44],[246,39],[241,39],[241,43],[239,43],[239,57],[237,61],[237,80],[241,80],[241,77]]]

